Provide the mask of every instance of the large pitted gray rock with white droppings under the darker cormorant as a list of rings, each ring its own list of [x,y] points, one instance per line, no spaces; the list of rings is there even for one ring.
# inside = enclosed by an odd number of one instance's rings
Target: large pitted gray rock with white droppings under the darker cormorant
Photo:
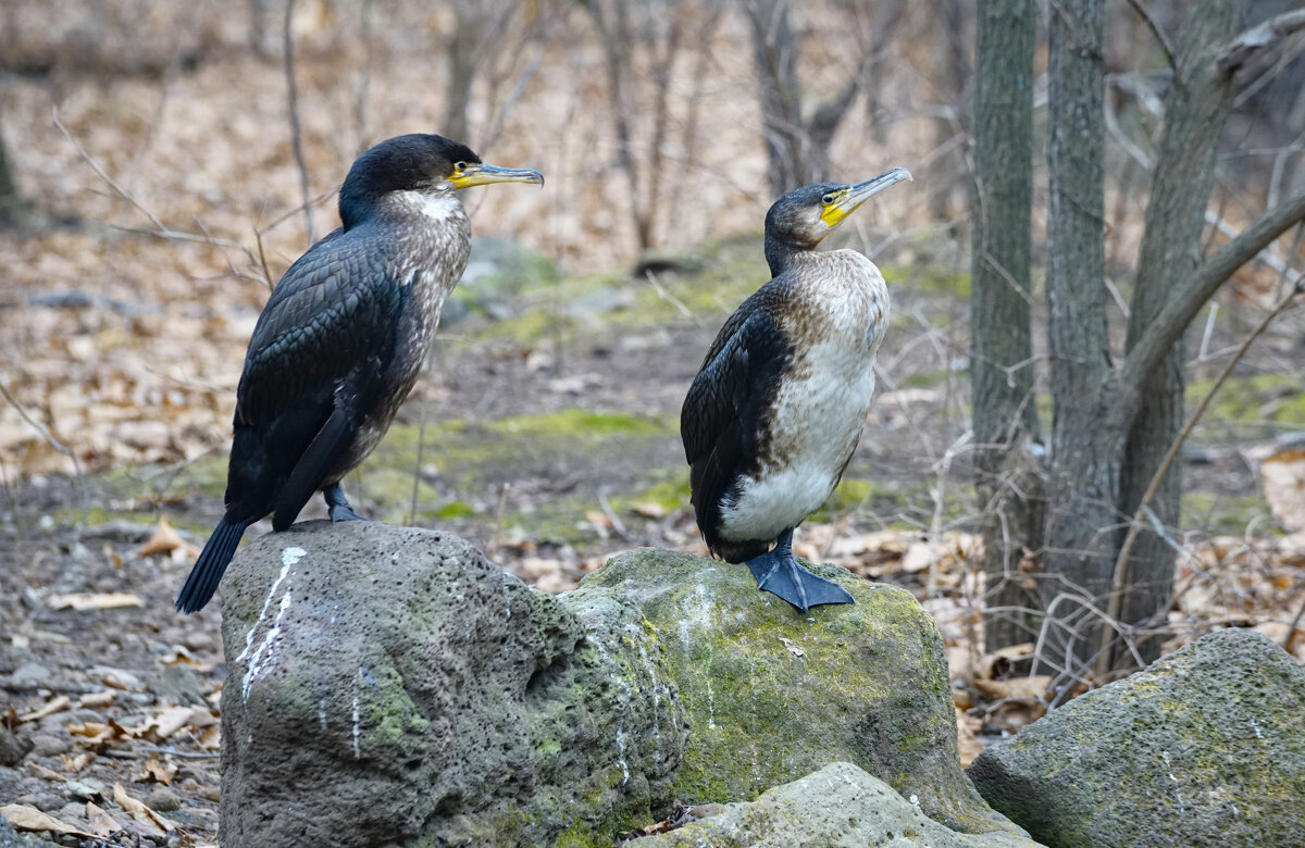
[[[223,844],[611,844],[651,821],[684,740],[628,622],[448,534],[258,539],[223,581]]]

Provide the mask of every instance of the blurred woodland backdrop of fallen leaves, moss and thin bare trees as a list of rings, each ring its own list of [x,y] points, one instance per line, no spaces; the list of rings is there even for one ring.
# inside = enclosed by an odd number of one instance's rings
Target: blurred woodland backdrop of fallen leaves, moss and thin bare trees
[[[1172,33],[1186,5],[1146,9]],[[1251,16],[1296,5],[1261,0]],[[1107,284],[1121,343],[1169,70],[1134,4],[1107,7]],[[975,13],[963,0],[3,0],[8,671],[40,646],[33,634],[72,633],[81,651],[180,644],[221,686],[218,614],[181,628],[171,601],[221,515],[249,333],[270,284],[338,224],[354,158],[438,132],[487,162],[539,168],[547,185],[466,193],[472,261],[427,376],[346,480],[360,513],[457,531],[545,591],[633,545],[705,552],[679,408],[716,329],[769,278],[766,209],[801,183],[903,166],[916,183],[830,239],[880,265],[894,312],[860,449],[797,551],[916,592],[958,681],[993,686],[980,693],[989,729],[1036,716],[1036,686],[1001,689],[1001,658],[980,656]],[[1207,249],[1305,187],[1302,51],[1287,38],[1244,72]],[[1039,359],[1045,65],[1040,47]],[[1297,247],[1261,254],[1201,313],[1189,406],[1298,267]],[[1292,638],[1305,554],[1291,536],[1305,521],[1302,327],[1298,305],[1275,318],[1184,450],[1171,643],[1242,624],[1305,659]],[[1271,455],[1285,458],[1265,472]],[[322,514],[315,502],[304,517]],[[72,618],[50,603],[69,594],[102,600]],[[103,600],[117,595],[128,600]],[[55,643],[40,656],[57,676],[80,655]]]

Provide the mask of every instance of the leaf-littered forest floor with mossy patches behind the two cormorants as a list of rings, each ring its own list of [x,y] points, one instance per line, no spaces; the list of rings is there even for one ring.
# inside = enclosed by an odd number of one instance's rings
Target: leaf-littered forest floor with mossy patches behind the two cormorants
[[[29,5],[38,22],[48,14],[44,3]],[[619,266],[632,250],[612,224],[617,192],[602,185],[619,180],[595,167],[612,153],[603,111],[548,99],[573,91],[600,100],[600,56],[569,38],[557,52],[577,63],[587,55],[591,67],[545,61],[539,103],[518,107],[487,158],[540,167],[559,193],[502,187],[479,196],[471,217],[478,232],[497,227],[540,245],[569,274],[485,243],[489,270],[468,271],[432,368],[346,480],[361,514],[458,532],[548,592],[632,547],[705,553],[688,506],[679,410],[716,329],[766,279],[758,231],[767,202],[750,129],[758,121],[745,111],[748,63],[722,61],[715,82],[744,112],[718,114],[711,144],[696,149],[716,159],[686,168],[675,228],[680,243],[715,240],[637,270]],[[424,116],[440,114],[438,86],[415,57],[377,59],[372,125],[356,132],[339,123],[351,65],[325,50],[303,57],[307,164],[318,190],[375,128],[428,129]],[[722,82],[729,73],[733,89]],[[50,120],[52,104],[67,138]],[[235,386],[268,295],[249,234],[265,227],[271,278],[305,244],[298,217],[268,228],[273,210],[299,202],[279,63],[219,56],[162,81],[22,78],[5,108],[20,189],[50,220],[0,231],[0,806],[25,830],[61,831],[60,844],[214,844],[221,591],[189,617],[172,603],[222,510]],[[531,136],[543,114],[565,114],[570,136]],[[919,128],[932,124],[903,125],[893,151],[855,137],[834,153],[859,176],[897,164],[898,154],[919,158],[929,137]],[[539,149],[555,136],[572,144]],[[591,140],[598,153],[576,155]],[[934,616],[968,758],[980,745],[974,733],[1036,719],[1049,678],[1006,674],[1031,646],[981,650],[968,258],[946,222],[927,218],[924,197],[902,193],[914,224],[868,206],[830,239],[881,265],[894,317],[860,447],[796,549],[903,586]],[[158,227],[141,209],[192,237],[142,235]],[[318,222],[333,215],[329,202],[318,209]],[[496,277],[513,256],[519,273]],[[1254,326],[1262,294],[1220,299],[1193,344],[1190,402]],[[1112,326],[1122,325],[1113,313]],[[1305,661],[1305,635],[1292,630],[1305,543],[1287,532],[1305,527],[1305,453],[1292,442],[1305,432],[1302,327],[1292,312],[1257,342],[1184,453],[1171,647],[1211,628],[1254,626]],[[1036,338],[1040,347],[1041,330]],[[1051,410],[1039,412],[1049,432]],[[315,501],[303,518],[321,515]]]

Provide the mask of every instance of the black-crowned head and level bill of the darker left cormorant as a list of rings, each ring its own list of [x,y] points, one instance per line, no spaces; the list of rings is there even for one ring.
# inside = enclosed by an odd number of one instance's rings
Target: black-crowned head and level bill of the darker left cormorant
[[[491,183],[544,184],[534,168],[500,168],[480,160],[470,147],[428,133],[395,136],[354,162],[339,189],[339,218],[348,230],[395,192],[452,196]]]

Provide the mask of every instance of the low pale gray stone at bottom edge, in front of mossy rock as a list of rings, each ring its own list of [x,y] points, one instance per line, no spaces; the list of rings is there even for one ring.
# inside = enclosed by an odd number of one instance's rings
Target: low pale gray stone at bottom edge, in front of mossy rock
[[[711,818],[633,843],[638,848],[1036,848],[1010,832],[958,834],[851,763],[726,805]]]

